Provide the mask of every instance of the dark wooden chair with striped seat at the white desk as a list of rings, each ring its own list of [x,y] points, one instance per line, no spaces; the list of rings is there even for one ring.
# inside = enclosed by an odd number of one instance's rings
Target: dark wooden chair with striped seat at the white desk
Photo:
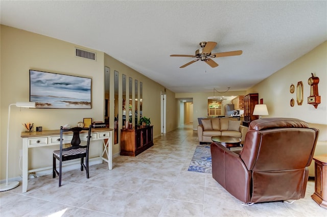
[[[80,145],[81,144],[80,132],[82,130],[88,130],[86,146]],[[73,132],[73,139],[71,141],[72,146],[68,148],[62,148],[64,144],[62,135],[64,132],[68,132],[68,131]],[[53,173],[52,173],[52,178],[55,178],[56,174],[59,176],[59,187],[61,186],[62,161],[81,158],[81,171],[85,169],[86,178],[89,178],[88,150],[89,150],[90,139],[91,139],[91,125],[88,128],[73,127],[70,129],[63,129],[62,126],[60,127],[60,150],[56,150],[53,152]],[[84,164],[84,157],[85,157],[85,164]],[[56,159],[59,160],[59,172],[56,167]]]

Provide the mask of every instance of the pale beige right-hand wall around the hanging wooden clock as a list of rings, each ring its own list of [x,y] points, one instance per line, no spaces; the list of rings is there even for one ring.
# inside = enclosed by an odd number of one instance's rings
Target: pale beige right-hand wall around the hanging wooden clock
[[[327,41],[320,44],[306,55],[275,72],[259,84],[253,86],[247,93],[259,93],[259,98],[267,104],[269,116],[298,118],[309,123],[327,124]],[[311,73],[319,77],[318,90],[321,103],[317,109],[308,104],[310,85],[308,79]],[[303,103],[296,103],[297,82],[303,83]],[[295,92],[290,93],[290,86],[294,84]],[[294,98],[295,105],[290,106]]]

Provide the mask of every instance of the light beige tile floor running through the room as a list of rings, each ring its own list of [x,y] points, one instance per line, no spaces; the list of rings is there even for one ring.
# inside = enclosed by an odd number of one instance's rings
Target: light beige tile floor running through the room
[[[192,125],[184,125],[154,140],[154,146],[136,157],[113,159],[85,172],[65,172],[63,185],[51,176],[30,179],[0,193],[0,215],[7,216],[327,216],[312,199],[314,182],[306,197],[283,202],[241,205],[211,174],[189,172],[198,145]]]

